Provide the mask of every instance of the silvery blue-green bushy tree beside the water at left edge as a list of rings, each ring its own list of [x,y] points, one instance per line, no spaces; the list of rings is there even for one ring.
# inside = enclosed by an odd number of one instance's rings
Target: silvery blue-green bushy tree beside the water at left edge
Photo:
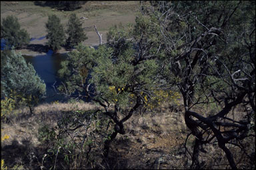
[[[36,74],[31,63],[15,51],[1,51],[1,95],[25,101],[33,114],[33,107],[45,95],[45,83]]]

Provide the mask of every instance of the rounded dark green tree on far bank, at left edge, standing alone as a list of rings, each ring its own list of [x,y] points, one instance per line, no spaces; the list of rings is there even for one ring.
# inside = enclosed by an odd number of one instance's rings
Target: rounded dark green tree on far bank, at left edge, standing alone
[[[1,23],[1,39],[5,39],[7,47],[19,49],[29,43],[29,34],[21,29],[17,17],[7,16]]]

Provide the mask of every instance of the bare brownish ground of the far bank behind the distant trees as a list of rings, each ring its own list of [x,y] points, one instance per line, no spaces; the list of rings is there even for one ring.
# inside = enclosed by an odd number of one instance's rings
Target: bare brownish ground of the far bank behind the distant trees
[[[119,23],[122,25],[134,23],[137,12],[139,12],[139,1],[87,1],[81,9],[75,11],[58,11],[34,1],[1,1],[1,21],[7,15],[16,16],[21,28],[26,29],[30,37],[35,39],[47,35],[45,23],[49,15],[57,15],[63,25],[67,25],[71,13],[76,13],[79,18],[84,17],[85,19],[81,21],[88,39],[83,41],[83,44],[89,46],[99,44],[94,25],[97,26],[99,33],[102,33],[103,43],[105,43],[109,27],[119,25]],[[29,45],[46,47],[47,39],[31,41]],[[47,53],[47,51],[39,51],[36,48],[21,49],[16,52],[21,52],[23,55]],[[65,49],[60,51],[60,53],[65,52]]]

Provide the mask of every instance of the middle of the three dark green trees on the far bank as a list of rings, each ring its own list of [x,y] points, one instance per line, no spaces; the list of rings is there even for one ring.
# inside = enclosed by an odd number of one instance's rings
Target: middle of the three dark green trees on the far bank
[[[62,45],[65,45],[65,32],[63,25],[61,25],[61,19],[56,15],[51,15],[46,23],[48,45],[55,53],[61,49]]]

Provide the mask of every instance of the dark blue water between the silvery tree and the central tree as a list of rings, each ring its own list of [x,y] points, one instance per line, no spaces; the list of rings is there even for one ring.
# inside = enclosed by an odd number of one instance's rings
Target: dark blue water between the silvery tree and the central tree
[[[66,101],[67,98],[64,95],[57,95],[55,89],[61,84],[57,72],[61,69],[61,61],[67,58],[67,54],[53,54],[53,51],[48,51],[47,55],[37,55],[31,57],[23,55],[25,61],[31,63],[37,71],[37,74],[46,84],[46,98],[45,102],[51,101]],[[53,88],[55,85],[55,89]]]

